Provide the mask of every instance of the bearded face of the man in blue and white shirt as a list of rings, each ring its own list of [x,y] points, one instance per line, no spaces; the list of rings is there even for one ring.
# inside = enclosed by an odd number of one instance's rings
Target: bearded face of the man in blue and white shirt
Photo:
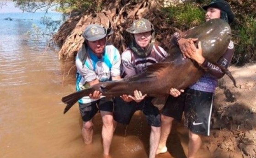
[[[95,53],[98,57],[101,57],[106,46],[106,38],[102,38],[97,41],[88,41],[87,44],[93,53]]]

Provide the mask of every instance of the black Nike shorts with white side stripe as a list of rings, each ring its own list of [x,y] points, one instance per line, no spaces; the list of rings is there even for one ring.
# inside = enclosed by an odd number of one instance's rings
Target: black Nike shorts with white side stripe
[[[213,97],[213,93],[188,88],[178,97],[170,95],[161,113],[181,121],[184,111],[184,126],[194,133],[209,136]]]

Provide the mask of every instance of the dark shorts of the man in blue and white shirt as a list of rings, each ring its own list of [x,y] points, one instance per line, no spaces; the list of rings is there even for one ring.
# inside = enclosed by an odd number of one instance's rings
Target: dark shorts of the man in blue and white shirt
[[[93,101],[91,103],[82,104],[79,103],[79,110],[83,121],[90,121],[98,111],[113,112],[113,99],[101,98],[100,100]]]

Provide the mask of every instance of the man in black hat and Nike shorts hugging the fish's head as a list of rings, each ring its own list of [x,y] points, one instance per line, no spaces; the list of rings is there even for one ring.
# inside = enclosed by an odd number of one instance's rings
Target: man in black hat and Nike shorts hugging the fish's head
[[[208,5],[203,6],[203,9],[206,11],[205,21],[216,18],[223,19],[228,23],[234,21],[230,5],[224,0],[212,0]],[[157,153],[167,152],[166,141],[171,132],[172,121],[174,119],[181,121],[184,111],[184,126],[189,130],[187,157],[195,158],[202,143],[200,135],[209,136],[210,134],[214,91],[218,79],[224,76],[224,72],[219,66],[208,62],[202,56],[201,42],[198,42],[198,48],[194,45],[197,39],[185,39],[176,32],[172,40],[179,45],[184,58],[195,60],[207,73],[186,90],[170,90],[169,98],[161,113],[161,137]],[[234,44],[230,41],[226,53],[219,58],[219,65],[227,68],[234,51]]]

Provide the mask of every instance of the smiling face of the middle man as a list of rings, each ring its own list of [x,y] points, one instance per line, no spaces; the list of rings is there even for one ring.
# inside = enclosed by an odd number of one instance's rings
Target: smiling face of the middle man
[[[134,38],[139,47],[145,48],[149,45],[151,41],[151,32],[143,32],[134,34]]]

